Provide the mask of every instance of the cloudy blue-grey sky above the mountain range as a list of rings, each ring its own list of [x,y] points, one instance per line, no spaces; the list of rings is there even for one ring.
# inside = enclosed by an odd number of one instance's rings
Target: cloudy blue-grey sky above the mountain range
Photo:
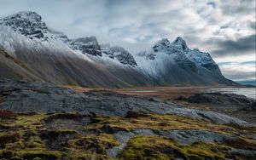
[[[0,0],[0,17],[35,11],[68,37],[96,36],[135,54],[180,36],[209,52],[225,77],[256,78],[255,0]]]

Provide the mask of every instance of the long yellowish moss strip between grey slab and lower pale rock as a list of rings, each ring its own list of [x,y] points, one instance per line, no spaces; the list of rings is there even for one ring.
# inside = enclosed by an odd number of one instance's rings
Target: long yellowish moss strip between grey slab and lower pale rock
[[[240,132],[240,130],[230,126],[177,115],[147,114],[135,118],[98,116],[93,119],[93,122],[96,123],[84,126],[84,130],[102,130],[102,132],[105,132],[107,126],[111,129],[124,131],[130,131],[131,129],[203,129],[220,134],[236,134]]]

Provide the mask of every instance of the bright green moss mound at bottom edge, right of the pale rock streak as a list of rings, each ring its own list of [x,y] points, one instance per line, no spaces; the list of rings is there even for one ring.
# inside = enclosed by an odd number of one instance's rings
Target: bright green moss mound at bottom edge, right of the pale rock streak
[[[215,148],[213,150],[212,148]],[[119,153],[120,159],[224,159],[225,154],[212,144],[195,143],[180,145],[165,137],[136,136],[128,141],[125,150]]]

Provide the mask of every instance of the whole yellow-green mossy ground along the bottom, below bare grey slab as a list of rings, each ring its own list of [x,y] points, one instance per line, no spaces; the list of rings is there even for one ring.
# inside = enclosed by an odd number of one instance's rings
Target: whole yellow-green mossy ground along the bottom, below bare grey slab
[[[189,130],[225,138],[182,143],[160,134]],[[133,134],[124,141],[119,133]],[[256,151],[255,134],[254,127],[140,111],[118,117],[0,110],[1,159],[244,159]]]

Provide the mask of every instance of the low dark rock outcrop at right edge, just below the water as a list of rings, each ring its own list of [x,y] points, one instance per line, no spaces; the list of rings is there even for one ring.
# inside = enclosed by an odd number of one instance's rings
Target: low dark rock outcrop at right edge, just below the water
[[[179,96],[177,103],[193,109],[217,111],[256,123],[256,100],[241,94],[200,93],[188,98]]]

